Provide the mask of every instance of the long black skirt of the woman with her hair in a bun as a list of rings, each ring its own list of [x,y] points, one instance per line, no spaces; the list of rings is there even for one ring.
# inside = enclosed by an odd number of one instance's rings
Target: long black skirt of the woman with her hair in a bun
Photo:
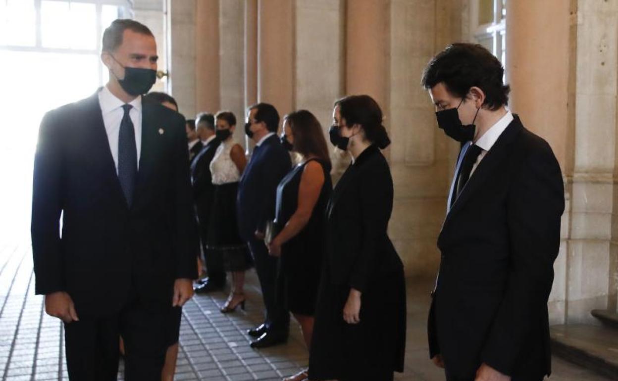
[[[361,297],[360,323],[347,324],[343,309],[350,287],[320,283],[311,341],[312,381],[389,381],[404,371],[405,279],[403,269],[375,279]]]

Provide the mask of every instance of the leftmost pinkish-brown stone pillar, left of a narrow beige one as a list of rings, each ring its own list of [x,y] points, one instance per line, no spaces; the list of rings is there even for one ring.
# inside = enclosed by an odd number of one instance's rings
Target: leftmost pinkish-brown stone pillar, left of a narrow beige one
[[[219,0],[198,0],[195,9],[196,112],[215,113],[219,91]],[[189,116],[187,115],[187,119]]]

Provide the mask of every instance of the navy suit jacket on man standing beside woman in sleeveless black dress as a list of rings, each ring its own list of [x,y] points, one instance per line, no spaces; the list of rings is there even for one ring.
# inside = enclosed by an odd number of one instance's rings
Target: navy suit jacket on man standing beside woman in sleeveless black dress
[[[237,196],[237,220],[243,241],[251,240],[256,230],[264,232],[266,221],[274,219],[277,185],[291,168],[290,154],[277,135],[253,149]]]

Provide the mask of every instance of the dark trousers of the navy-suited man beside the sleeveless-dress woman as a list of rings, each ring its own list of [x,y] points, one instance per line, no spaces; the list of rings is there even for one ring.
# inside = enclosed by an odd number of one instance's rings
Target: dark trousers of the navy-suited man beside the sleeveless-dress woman
[[[290,326],[290,314],[281,304],[276,303],[277,257],[268,254],[264,241],[252,239],[248,242],[255,262],[255,270],[260,279],[262,296],[266,306],[265,324],[274,333],[287,335]]]

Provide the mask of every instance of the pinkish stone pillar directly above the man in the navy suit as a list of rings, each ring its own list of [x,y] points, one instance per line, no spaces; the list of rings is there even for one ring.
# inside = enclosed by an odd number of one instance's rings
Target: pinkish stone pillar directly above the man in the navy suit
[[[258,101],[294,110],[294,2],[258,1]]]

